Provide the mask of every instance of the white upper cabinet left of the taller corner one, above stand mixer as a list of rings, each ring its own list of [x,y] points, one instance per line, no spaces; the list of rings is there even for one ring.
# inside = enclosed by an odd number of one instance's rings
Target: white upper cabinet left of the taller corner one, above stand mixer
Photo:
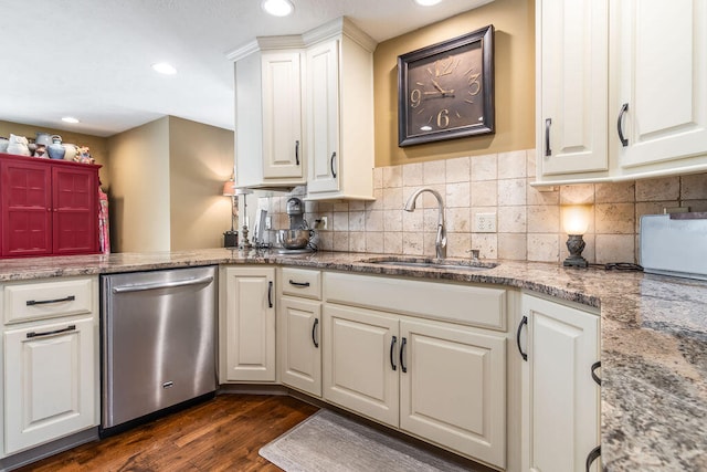
[[[256,40],[234,52],[235,181],[240,187],[305,183],[302,51],[297,40]]]

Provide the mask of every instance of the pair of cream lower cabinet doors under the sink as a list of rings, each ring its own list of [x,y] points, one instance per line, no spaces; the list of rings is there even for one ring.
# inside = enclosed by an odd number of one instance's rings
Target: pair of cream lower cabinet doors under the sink
[[[324,398],[504,468],[506,338],[326,304]]]

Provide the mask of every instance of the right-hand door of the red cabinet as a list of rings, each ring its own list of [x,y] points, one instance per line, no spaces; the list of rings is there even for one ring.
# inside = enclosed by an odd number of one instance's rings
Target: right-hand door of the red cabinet
[[[52,169],[53,252],[98,252],[98,182],[96,170]]]

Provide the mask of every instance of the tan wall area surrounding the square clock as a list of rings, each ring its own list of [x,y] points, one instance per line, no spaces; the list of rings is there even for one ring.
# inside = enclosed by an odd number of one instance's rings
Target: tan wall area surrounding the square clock
[[[398,147],[398,55],[487,24],[495,33],[496,133]],[[376,167],[535,147],[535,2],[496,0],[478,9],[393,38],[373,54]]]

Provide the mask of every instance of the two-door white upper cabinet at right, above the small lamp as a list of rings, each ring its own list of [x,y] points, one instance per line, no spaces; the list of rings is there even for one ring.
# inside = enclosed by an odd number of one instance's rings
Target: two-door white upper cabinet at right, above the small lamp
[[[707,4],[538,0],[538,182],[707,170]]]

